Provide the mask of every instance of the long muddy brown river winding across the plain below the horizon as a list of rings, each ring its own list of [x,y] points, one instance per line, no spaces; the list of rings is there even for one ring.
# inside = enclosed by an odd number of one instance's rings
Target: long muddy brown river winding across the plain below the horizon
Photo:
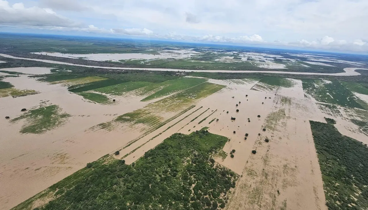
[[[170,68],[123,68],[123,67],[100,67],[100,66],[92,66],[92,65],[80,65],[80,64],[71,64],[60,61],[52,61],[52,60],[42,60],[42,59],[33,59],[33,58],[21,58],[14,57],[7,54],[0,54],[0,56],[7,58],[15,58],[22,60],[32,60],[32,61],[40,61],[45,63],[53,63],[53,64],[65,64],[65,65],[74,65],[74,66],[82,66],[89,68],[107,68],[107,69],[119,69],[119,70],[148,70],[148,71],[183,71],[183,72],[226,72],[226,73],[275,73],[275,74],[303,74],[303,75],[335,75],[335,76],[355,76],[360,75],[360,73],[356,72],[357,69],[368,70],[368,68],[344,68],[343,73],[335,73],[335,74],[327,74],[327,73],[313,73],[313,72],[287,72],[287,71],[227,71],[227,70],[181,70],[181,69],[170,69]]]

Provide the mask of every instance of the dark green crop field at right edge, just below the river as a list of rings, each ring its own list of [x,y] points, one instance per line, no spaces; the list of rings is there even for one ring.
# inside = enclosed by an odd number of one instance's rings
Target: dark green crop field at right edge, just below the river
[[[368,109],[367,103],[358,99],[341,81],[303,79],[303,90],[318,102]]]

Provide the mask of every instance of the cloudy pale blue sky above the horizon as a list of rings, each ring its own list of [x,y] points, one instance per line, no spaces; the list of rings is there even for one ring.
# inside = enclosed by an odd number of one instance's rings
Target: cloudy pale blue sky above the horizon
[[[0,31],[368,52],[368,0],[0,0]]]

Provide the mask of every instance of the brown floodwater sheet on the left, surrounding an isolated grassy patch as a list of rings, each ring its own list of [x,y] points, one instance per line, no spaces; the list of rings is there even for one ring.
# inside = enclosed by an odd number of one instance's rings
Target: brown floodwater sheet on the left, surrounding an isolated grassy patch
[[[144,107],[134,97],[116,97],[117,103],[101,105],[85,102],[59,84],[48,85],[26,75],[5,78],[17,89],[33,89],[39,94],[24,97],[0,98],[0,209],[10,209],[48,186],[97,160],[139,132],[84,132],[94,125],[112,120],[117,115]],[[20,134],[23,122],[11,124],[10,118],[45,104],[56,104],[72,115],[60,128],[42,135]],[[115,116],[114,116],[115,115]]]

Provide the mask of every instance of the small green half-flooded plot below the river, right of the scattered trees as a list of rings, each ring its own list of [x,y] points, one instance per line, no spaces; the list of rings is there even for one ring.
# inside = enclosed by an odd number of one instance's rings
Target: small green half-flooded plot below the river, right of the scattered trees
[[[277,88],[292,88],[294,82],[288,78],[265,76],[258,83],[256,83],[251,90],[259,90],[263,92],[275,92]]]

